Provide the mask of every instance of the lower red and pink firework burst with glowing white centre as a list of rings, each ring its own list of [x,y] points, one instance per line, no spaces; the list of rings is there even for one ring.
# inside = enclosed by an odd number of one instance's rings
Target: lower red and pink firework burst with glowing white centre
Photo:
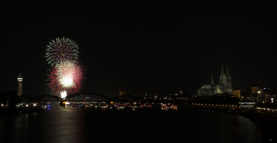
[[[64,60],[58,62],[48,75],[50,82],[48,88],[54,94],[66,91],[67,93],[76,93],[81,90],[85,79],[85,67],[80,62]],[[62,95],[61,92],[61,95]]]

